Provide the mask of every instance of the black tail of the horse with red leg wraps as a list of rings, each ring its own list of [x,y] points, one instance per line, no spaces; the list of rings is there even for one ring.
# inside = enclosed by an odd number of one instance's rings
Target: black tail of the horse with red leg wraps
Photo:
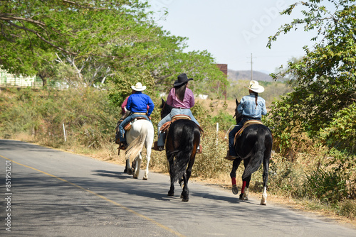
[[[258,170],[258,168],[262,164],[264,151],[266,150],[265,139],[266,139],[266,131],[264,131],[262,128],[259,128],[256,142],[253,145],[251,152],[248,154],[248,156],[250,156],[251,159],[250,162],[248,162],[248,165],[245,167],[245,171],[244,174],[242,175],[242,179],[245,179],[246,177],[252,175],[253,172],[256,172],[256,170]]]

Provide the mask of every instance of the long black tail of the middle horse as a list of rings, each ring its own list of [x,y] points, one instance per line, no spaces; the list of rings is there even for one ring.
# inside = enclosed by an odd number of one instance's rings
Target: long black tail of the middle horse
[[[186,123],[180,134],[179,147],[167,154],[169,159],[174,159],[173,169],[171,170],[172,182],[177,182],[186,172],[188,162],[194,149],[194,124]],[[200,135],[200,134],[199,134]]]

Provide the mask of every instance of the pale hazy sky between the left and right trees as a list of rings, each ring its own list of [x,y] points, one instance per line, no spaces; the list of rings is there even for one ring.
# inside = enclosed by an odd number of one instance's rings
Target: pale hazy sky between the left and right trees
[[[168,16],[157,23],[172,35],[189,38],[192,50],[208,50],[216,63],[231,70],[275,72],[292,57],[304,55],[303,45],[313,45],[303,28],[281,35],[266,47],[268,36],[274,35],[284,23],[301,16],[300,9],[292,16],[280,11],[295,1],[287,0],[150,0],[155,12],[167,9]],[[161,13],[162,16],[162,13]]]

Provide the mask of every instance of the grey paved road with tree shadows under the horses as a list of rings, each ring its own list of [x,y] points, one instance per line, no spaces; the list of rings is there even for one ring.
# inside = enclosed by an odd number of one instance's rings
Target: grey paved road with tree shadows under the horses
[[[356,236],[354,228],[276,204],[260,206],[258,199],[242,202],[196,182],[189,202],[181,202],[179,195],[167,197],[167,175],[150,173],[144,181],[142,172],[135,180],[123,170],[0,140],[0,236]]]

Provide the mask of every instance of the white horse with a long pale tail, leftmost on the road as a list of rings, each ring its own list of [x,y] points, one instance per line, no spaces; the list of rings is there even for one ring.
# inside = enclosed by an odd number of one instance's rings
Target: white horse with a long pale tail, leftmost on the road
[[[141,151],[143,145],[147,149],[147,166],[143,180],[148,179],[148,165],[150,165],[152,143],[155,135],[155,129],[150,121],[146,119],[140,119],[132,123],[129,131],[126,132],[126,140],[129,145],[126,149],[126,170],[127,174],[133,175],[137,179],[140,174],[140,165],[142,161]],[[130,165],[130,159],[133,160],[132,166]],[[134,165],[135,164],[135,165]]]

